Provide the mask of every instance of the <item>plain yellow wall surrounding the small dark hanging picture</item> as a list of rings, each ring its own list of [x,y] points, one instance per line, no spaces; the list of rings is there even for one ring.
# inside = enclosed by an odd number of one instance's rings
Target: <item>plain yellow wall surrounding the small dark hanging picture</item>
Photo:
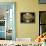
[[[16,2],[16,37],[36,38],[39,34],[39,10],[46,10],[45,4],[39,4],[38,0],[1,0],[0,2]],[[20,23],[21,12],[34,12],[35,23]]]

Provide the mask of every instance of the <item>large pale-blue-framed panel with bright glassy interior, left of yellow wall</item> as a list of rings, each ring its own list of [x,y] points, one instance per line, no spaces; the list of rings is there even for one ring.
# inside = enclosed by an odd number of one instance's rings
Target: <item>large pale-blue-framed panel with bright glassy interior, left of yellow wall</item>
[[[15,2],[0,2],[0,40],[15,40]]]

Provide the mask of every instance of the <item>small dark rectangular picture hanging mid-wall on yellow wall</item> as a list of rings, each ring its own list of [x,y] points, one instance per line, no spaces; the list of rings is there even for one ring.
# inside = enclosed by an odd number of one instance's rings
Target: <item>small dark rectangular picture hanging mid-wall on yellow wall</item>
[[[35,14],[31,12],[21,13],[21,23],[35,23]]]

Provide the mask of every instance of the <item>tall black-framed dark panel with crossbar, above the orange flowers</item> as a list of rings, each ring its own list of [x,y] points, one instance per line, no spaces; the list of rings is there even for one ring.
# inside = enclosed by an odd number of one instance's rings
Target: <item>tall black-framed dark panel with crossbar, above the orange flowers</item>
[[[46,11],[39,12],[39,35],[46,32]]]

